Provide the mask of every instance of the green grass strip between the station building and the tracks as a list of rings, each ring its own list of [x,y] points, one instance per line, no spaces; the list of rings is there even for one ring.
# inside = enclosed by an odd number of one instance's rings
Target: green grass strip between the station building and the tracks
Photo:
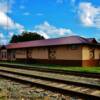
[[[22,66],[31,66],[31,67],[43,67],[49,68],[54,70],[65,70],[65,71],[79,71],[79,72],[90,72],[90,73],[100,73],[100,66],[99,67],[70,67],[70,66],[62,66],[62,65],[51,65],[51,64],[23,64],[17,62],[0,62],[4,64],[17,64]]]

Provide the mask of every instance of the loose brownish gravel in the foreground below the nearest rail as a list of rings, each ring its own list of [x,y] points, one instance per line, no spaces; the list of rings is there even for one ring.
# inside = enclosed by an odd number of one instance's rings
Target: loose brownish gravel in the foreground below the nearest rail
[[[0,100],[83,100],[0,77]]]

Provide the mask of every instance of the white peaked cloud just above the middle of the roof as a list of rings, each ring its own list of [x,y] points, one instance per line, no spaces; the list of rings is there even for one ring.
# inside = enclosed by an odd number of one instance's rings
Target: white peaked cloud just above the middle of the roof
[[[47,21],[45,21],[43,24],[36,25],[34,27],[34,31],[40,33],[45,38],[55,38],[74,34],[70,29],[57,28],[53,25],[50,25]]]

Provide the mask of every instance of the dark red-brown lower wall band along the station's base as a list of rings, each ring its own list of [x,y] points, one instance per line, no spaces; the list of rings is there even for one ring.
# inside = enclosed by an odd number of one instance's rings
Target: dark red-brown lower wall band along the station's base
[[[100,66],[99,60],[48,60],[48,59],[16,59],[16,62],[21,63],[40,63],[40,64],[57,64],[65,66]]]

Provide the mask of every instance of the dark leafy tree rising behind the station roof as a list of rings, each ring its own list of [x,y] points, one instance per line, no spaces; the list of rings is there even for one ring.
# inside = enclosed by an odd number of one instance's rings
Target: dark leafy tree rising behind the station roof
[[[45,39],[43,36],[39,35],[36,32],[22,32],[21,35],[13,35],[10,43],[24,42],[24,41],[33,41],[33,40],[42,40]]]

